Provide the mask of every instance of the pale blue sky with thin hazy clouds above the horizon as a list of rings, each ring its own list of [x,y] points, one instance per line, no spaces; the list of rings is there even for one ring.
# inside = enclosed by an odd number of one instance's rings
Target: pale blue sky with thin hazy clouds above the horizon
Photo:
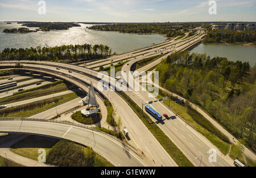
[[[47,22],[255,22],[256,0],[0,0],[0,21]]]

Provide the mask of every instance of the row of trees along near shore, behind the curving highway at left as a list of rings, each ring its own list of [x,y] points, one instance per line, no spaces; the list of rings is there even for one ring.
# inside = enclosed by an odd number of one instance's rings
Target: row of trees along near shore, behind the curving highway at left
[[[61,45],[55,47],[6,48],[0,60],[51,60],[99,59],[111,55],[112,50],[103,44]]]

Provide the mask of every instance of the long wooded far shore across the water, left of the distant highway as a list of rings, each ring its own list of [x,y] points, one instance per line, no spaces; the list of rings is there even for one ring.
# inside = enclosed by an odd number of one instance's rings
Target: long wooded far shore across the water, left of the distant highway
[[[200,26],[200,23],[126,23],[126,24],[108,24],[94,25],[89,27],[93,30],[101,31],[119,31],[127,33],[151,33],[167,34],[175,37],[175,32],[179,30],[187,31],[188,29]],[[174,32],[174,33],[172,33]],[[181,33],[181,31],[179,31]]]

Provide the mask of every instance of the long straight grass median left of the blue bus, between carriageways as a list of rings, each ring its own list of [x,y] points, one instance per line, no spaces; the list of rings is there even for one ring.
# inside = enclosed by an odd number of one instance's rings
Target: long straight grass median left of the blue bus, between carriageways
[[[177,148],[177,146],[172,142],[170,138],[153,122],[146,113],[141,116],[142,109],[133,100],[131,100],[125,93],[119,93],[121,97],[130,105],[134,112],[138,115],[144,125],[151,131],[158,142],[164,147],[168,154],[175,160],[177,165],[181,167],[191,167],[193,164],[188,160],[188,158]]]

